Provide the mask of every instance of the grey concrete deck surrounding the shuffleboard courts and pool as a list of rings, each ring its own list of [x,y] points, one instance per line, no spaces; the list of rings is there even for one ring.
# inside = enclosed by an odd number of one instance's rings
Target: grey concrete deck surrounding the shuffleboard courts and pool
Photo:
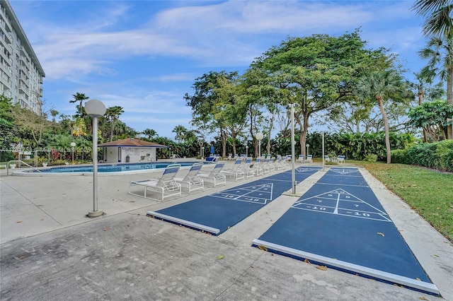
[[[147,211],[254,179],[159,202],[127,194],[130,181],[150,173],[98,177],[98,208],[105,215],[87,218],[93,210],[91,176],[6,177],[0,170],[1,300],[453,301],[452,243],[367,170],[360,172],[442,297],[321,271],[251,247],[294,196],[280,196],[218,237],[147,217]],[[297,193],[323,175],[298,184]]]

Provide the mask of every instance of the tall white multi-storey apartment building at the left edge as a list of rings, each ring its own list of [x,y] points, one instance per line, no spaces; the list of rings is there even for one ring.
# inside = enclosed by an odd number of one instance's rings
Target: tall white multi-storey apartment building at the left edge
[[[0,95],[40,114],[44,70],[8,0],[0,5]]]

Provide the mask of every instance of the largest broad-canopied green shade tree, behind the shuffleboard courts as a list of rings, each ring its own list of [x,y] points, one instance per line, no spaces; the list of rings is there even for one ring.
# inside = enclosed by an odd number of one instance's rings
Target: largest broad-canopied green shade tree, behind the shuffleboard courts
[[[288,38],[256,59],[252,68],[265,72],[282,105],[299,105],[294,119],[299,124],[304,154],[310,117],[350,100],[355,95],[356,78],[387,60],[383,49],[365,49],[356,30],[340,37]]]

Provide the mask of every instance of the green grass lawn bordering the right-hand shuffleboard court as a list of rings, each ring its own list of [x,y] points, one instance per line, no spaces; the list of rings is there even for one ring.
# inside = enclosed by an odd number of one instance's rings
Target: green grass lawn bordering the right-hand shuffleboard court
[[[453,175],[404,164],[355,163],[365,167],[453,242]]]

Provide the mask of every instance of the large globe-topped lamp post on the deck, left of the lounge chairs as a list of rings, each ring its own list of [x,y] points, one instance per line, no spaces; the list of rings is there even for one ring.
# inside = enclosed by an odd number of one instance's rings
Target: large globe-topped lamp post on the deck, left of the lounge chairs
[[[88,212],[88,217],[102,216],[98,211],[98,117],[105,114],[105,105],[101,100],[88,100],[85,112],[93,117],[93,211]]]

